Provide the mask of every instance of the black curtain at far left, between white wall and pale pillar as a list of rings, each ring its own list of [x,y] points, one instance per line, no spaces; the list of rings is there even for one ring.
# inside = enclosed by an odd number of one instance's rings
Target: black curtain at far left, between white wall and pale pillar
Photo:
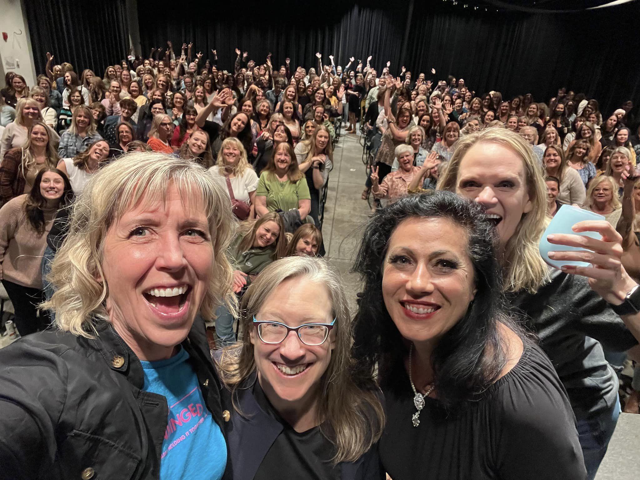
[[[38,74],[44,73],[47,52],[53,65],[68,61],[78,75],[91,68],[100,77],[129,52],[125,0],[26,0],[24,8]]]

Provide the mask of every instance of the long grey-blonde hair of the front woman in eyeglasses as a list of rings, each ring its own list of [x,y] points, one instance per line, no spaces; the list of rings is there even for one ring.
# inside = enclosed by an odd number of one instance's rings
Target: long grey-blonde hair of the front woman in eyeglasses
[[[234,394],[239,388],[246,388],[244,384],[256,372],[249,335],[255,328],[253,316],[259,314],[276,287],[289,278],[305,278],[308,282],[321,284],[331,298],[332,317],[335,318],[331,335],[335,338],[335,348],[320,380],[317,421],[323,435],[336,447],[335,463],[358,460],[380,438],[385,417],[373,379],[361,378],[362,375],[356,373],[351,356],[353,326],[349,304],[338,276],[323,259],[307,255],[286,257],[276,260],[260,273],[242,299],[243,340],[223,349],[220,378],[230,390],[236,410],[242,414]]]

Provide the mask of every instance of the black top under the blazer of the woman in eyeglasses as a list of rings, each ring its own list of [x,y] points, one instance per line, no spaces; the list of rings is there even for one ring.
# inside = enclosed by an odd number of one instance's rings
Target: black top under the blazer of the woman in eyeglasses
[[[319,427],[302,433],[295,431],[271,406],[259,381],[253,384],[253,396],[260,408],[284,427],[262,459],[253,480],[340,480],[340,467],[331,462],[335,447]]]

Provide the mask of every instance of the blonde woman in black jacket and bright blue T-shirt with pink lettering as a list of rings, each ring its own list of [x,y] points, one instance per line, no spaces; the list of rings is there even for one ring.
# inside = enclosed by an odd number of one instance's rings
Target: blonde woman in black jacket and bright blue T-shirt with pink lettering
[[[96,173],[49,275],[58,330],[0,351],[3,474],[222,478],[219,380],[197,314],[235,310],[226,202],[173,156],[126,154]]]

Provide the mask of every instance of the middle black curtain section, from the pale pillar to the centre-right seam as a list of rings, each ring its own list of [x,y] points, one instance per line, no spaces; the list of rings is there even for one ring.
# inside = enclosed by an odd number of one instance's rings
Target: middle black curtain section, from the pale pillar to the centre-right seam
[[[287,57],[292,66],[317,68],[316,52],[323,54],[323,63],[330,63],[328,56],[333,54],[336,65],[344,67],[350,56],[366,64],[368,54],[385,59],[399,55],[408,0],[394,4],[397,8],[390,10],[388,2],[380,0],[289,4],[193,0],[189,15],[176,17],[171,13],[177,12],[173,1],[138,0],[141,46],[143,56],[148,56],[151,47],[166,49],[171,40],[179,56],[182,43],[192,41],[194,57],[202,51],[203,60],[212,58],[211,50],[216,49],[219,68],[226,70],[234,67],[236,47],[248,51],[257,65],[271,52],[274,68],[284,65]]]

